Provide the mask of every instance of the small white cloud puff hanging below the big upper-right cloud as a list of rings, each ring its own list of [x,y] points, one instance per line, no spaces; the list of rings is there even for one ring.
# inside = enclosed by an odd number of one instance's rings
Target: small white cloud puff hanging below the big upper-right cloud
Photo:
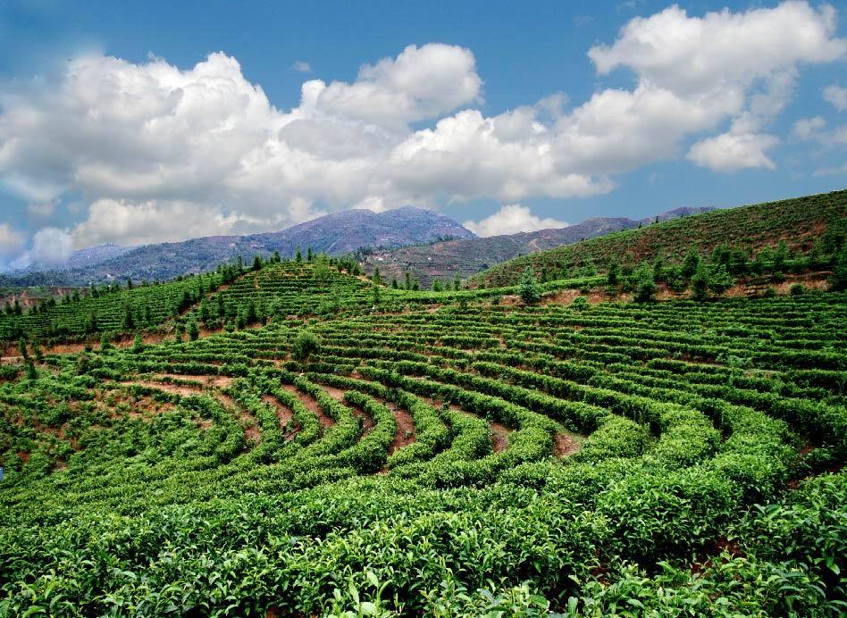
[[[779,142],[772,135],[755,133],[722,133],[702,139],[688,152],[688,158],[701,167],[714,171],[738,171],[750,168],[773,170],[776,164],[767,158],[767,148]]]

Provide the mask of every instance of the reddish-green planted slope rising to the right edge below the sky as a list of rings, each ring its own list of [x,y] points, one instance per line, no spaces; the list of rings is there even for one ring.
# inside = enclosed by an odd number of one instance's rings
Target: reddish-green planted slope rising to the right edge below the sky
[[[785,240],[789,251],[805,254],[827,227],[845,219],[847,190],[716,210],[517,257],[494,266],[476,281],[487,286],[514,285],[527,267],[537,273],[558,272],[588,261],[601,268],[612,259],[636,263],[658,255],[679,262],[690,247],[708,255],[722,244],[754,255]]]

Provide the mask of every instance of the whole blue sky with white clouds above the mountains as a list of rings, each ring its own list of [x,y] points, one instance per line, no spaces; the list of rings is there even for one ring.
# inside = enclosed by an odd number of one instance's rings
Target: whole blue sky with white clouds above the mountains
[[[418,205],[479,235],[847,186],[833,4],[0,3],[0,269]]]

